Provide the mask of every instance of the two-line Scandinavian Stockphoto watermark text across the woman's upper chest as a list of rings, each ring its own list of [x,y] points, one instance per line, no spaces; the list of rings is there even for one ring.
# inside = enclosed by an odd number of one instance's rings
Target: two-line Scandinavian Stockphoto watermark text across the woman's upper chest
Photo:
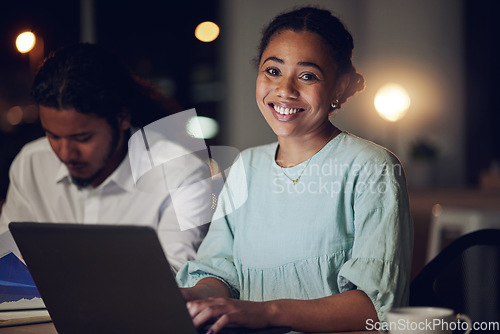
[[[321,164],[309,164],[301,169],[275,169],[273,173],[273,192],[276,194],[321,194],[334,197],[346,189],[356,193],[384,194],[390,190],[385,176],[403,175],[401,164],[346,164],[330,159]],[[363,175],[376,175],[377,180],[359,178]],[[381,178],[382,180],[380,180]],[[296,180],[297,182],[294,182]]]

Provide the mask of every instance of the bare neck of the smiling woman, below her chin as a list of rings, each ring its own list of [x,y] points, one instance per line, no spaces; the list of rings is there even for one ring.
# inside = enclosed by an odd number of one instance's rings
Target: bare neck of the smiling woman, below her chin
[[[279,148],[276,152],[276,163],[287,168],[310,159],[341,132],[333,124],[329,124],[319,134],[300,138],[278,137]]]

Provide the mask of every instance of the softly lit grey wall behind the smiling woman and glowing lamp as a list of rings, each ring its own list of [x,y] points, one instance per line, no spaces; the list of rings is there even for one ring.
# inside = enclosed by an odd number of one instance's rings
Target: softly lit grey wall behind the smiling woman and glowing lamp
[[[411,144],[419,139],[434,143],[439,155],[433,185],[463,185],[463,1],[222,1],[224,141],[244,149],[276,140],[255,103],[252,59],[263,26],[277,14],[307,4],[330,9],[343,20],[354,37],[354,64],[367,81],[366,90],[351,98],[333,122],[395,151],[409,178],[416,166],[409,154]],[[406,87],[412,99],[396,133],[373,106],[377,89],[391,81]]]

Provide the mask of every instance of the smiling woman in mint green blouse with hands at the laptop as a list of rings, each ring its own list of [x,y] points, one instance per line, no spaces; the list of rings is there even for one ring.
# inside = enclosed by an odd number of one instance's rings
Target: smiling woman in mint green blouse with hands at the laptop
[[[412,226],[404,171],[329,115],[364,87],[353,41],[305,7],[264,30],[257,105],[278,142],[241,154],[196,261],[178,273],[194,323],[363,330],[408,302]],[[241,185],[246,182],[247,185]],[[231,203],[248,189],[247,201]]]

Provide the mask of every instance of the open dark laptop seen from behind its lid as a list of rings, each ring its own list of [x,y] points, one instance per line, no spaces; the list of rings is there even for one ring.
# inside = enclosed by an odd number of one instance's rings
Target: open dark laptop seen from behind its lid
[[[156,231],[146,226],[20,223],[10,231],[59,333],[197,330]],[[221,333],[287,333],[227,328]]]

